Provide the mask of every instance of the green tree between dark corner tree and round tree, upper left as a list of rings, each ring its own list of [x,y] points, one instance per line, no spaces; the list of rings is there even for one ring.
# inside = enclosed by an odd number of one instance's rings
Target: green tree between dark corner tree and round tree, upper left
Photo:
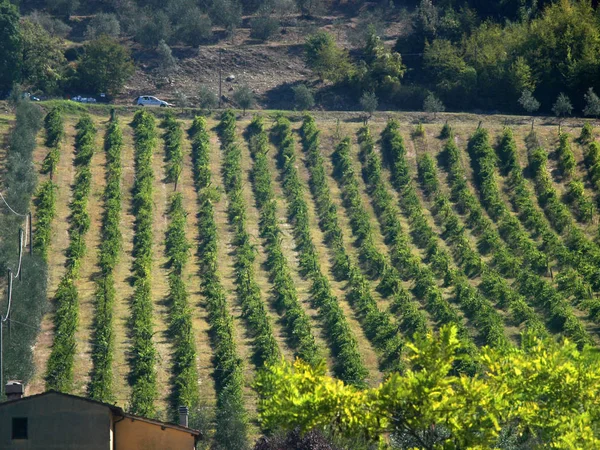
[[[66,64],[61,40],[27,19],[21,22],[21,37],[22,84],[55,94],[64,78]]]

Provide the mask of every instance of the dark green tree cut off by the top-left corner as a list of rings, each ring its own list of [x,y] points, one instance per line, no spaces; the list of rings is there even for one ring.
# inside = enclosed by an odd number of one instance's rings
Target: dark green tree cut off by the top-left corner
[[[0,95],[7,94],[19,81],[21,27],[17,8],[7,0],[0,3]]]

